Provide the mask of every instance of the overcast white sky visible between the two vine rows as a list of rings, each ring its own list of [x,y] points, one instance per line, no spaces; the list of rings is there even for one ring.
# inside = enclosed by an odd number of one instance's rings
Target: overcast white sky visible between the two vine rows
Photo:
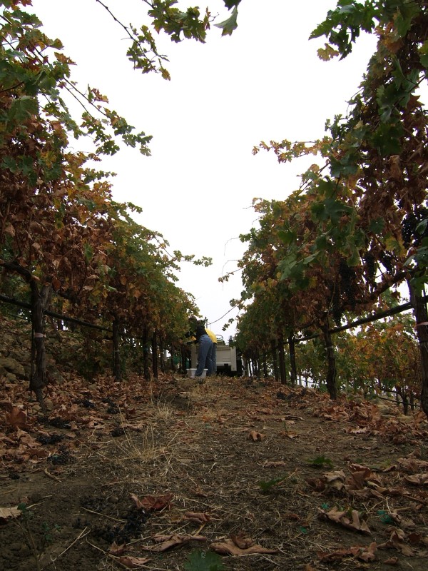
[[[141,0],[103,1],[123,24],[148,23]],[[228,17],[222,0],[178,2],[194,4],[210,6],[218,21]],[[305,170],[301,162],[277,164],[272,152],[253,156],[253,146],[320,138],[325,120],[345,113],[374,51],[374,37],[365,37],[345,61],[317,58],[324,41],[308,37],[335,6],[243,0],[233,36],[222,38],[213,26],[205,44],[159,37],[170,59],[165,81],[133,71],[125,32],[96,0],[33,0],[46,33],[76,62],[73,79],[100,89],[111,108],[153,135],[151,157],[125,148],[106,161],[117,173],[113,197],[141,206],[137,221],[162,233],[171,251],[213,258],[210,268],[183,265],[178,285],[225,338],[235,333],[222,325],[237,313],[229,300],[239,298],[242,283],[239,275],[224,284],[218,277],[245,251],[239,234],[257,225],[253,198],[285,198]]]

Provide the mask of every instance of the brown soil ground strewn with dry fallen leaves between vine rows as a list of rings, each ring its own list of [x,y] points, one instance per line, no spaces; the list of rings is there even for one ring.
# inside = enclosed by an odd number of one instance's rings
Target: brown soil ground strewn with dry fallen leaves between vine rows
[[[250,378],[0,391],[4,571],[427,569],[420,412]]]

